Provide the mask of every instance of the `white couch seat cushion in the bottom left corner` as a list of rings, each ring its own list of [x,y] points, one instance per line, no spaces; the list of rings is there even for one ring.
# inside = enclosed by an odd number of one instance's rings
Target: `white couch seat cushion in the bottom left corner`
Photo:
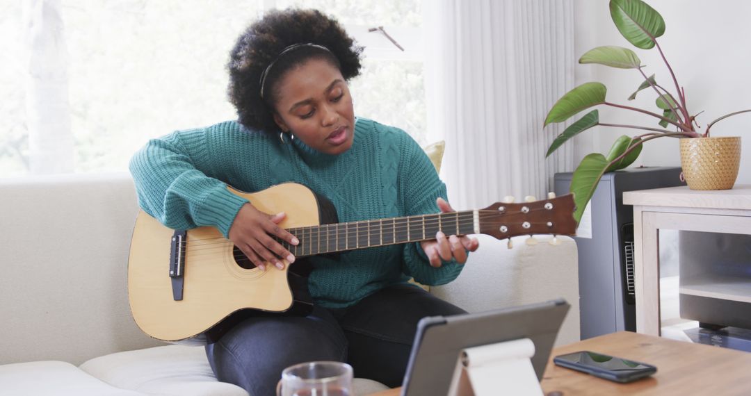
[[[70,363],[45,361],[0,365],[0,395],[142,396],[117,389]]]

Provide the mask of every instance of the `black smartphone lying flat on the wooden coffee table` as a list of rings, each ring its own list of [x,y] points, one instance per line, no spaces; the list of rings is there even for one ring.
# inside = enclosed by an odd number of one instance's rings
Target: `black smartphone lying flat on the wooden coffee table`
[[[591,351],[556,356],[553,363],[617,383],[630,383],[657,372],[653,365]]]

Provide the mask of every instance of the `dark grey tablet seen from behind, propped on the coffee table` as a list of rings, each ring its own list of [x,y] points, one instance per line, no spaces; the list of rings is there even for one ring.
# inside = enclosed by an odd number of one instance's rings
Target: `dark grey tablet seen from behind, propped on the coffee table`
[[[550,356],[569,303],[563,299],[448,317],[424,317],[402,385],[402,396],[447,395],[457,358],[469,347],[529,338],[537,379]]]

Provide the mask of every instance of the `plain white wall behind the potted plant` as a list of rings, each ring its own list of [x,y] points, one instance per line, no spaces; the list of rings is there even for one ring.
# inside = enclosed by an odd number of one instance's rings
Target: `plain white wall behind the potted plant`
[[[701,130],[720,115],[751,109],[751,1],[744,0],[647,0],[665,19],[665,34],[658,38],[678,83],[686,89],[686,102],[698,117]],[[637,49],[615,27],[605,0],[575,0],[575,56],[595,46],[616,45],[633,49],[647,76],[656,74],[657,83],[675,92],[670,74],[656,48]],[[576,65],[576,85],[599,81],[608,87],[608,101],[656,110],[656,94],[640,92],[635,101],[626,98],[642,82],[638,71],[602,65]],[[655,111],[656,113],[656,111]],[[584,112],[582,113],[584,114]],[[612,124],[642,124],[658,127],[656,118],[628,110],[600,107],[600,120]],[[634,136],[640,130],[598,127],[575,138],[575,163],[584,155],[607,153],[614,139]],[[645,131],[646,132],[646,131]],[[751,113],[735,115],[712,127],[712,136],[743,136],[739,184],[751,184]],[[680,165],[677,139],[647,142],[633,166]]]

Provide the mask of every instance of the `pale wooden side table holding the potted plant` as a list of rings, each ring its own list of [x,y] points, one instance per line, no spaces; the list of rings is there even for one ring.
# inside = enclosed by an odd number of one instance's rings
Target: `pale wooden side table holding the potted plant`
[[[751,234],[751,185],[738,184],[731,190],[683,186],[626,191],[623,203],[634,205],[636,331],[659,335],[659,229]],[[749,283],[734,278],[700,283],[706,287],[697,288],[698,296],[751,301]]]

